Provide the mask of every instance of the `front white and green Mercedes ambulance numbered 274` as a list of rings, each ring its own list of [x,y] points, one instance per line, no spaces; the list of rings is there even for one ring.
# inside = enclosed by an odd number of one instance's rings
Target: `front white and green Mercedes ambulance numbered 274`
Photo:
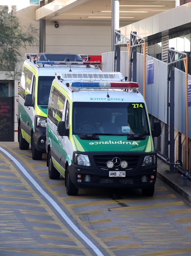
[[[48,103],[47,166],[65,177],[68,195],[83,187],[137,187],[152,196],[157,176],[153,136],[138,84],[119,72],[69,66],[56,74]]]

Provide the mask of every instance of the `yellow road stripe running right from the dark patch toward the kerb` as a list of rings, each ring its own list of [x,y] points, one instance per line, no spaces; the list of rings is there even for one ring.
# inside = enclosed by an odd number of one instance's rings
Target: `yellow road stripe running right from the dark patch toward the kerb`
[[[137,206],[127,206],[127,207],[116,207],[111,208],[110,211],[124,211],[124,210],[135,210],[135,209],[148,209],[148,208],[157,208],[157,207],[168,207],[168,206],[180,206],[185,205],[184,202],[171,202],[171,203],[156,203],[156,204],[145,204],[145,205],[137,205]]]

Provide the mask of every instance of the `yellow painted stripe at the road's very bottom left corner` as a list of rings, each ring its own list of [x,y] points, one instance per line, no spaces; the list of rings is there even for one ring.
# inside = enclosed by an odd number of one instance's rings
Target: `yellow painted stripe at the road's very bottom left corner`
[[[1,247],[0,247],[1,248]],[[2,248],[4,251],[9,251],[9,252],[22,252],[25,253],[26,255],[28,254],[34,254],[34,255],[45,255],[45,256],[76,256],[74,254],[68,254],[68,253],[58,253],[58,252],[48,252],[48,251],[41,251],[41,250],[32,250],[32,249],[9,249],[9,248]],[[82,255],[78,255],[82,256]]]

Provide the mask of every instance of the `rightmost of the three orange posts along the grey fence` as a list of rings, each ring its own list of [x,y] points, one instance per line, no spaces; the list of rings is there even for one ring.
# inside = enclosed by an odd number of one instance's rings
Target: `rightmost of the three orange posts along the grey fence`
[[[184,58],[186,73],[186,171],[188,172],[188,56]]]

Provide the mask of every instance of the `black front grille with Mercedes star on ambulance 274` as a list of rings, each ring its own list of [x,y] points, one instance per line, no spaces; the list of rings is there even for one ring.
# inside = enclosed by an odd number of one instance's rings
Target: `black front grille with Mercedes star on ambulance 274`
[[[108,161],[111,161],[113,158],[119,157],[122,160],[125,160],[128,162],[128,169],[135,169],[140,161],[140,156],[127,156],[127,155],[100,155],[100,156],[94,156],[94,161],[96,162],[96,165],[100,169],[107,169],[106,163]]]

